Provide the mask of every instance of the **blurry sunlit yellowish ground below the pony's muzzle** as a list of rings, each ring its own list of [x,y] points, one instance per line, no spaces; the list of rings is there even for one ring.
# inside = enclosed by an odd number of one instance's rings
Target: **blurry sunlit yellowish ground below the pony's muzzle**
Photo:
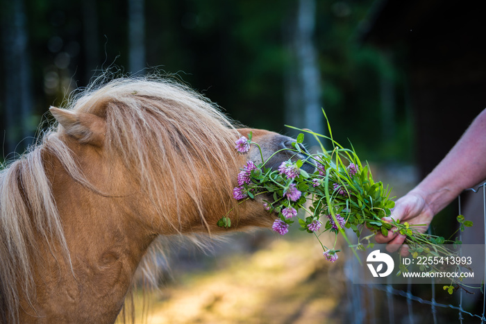
[[[344,259],[330,264],[311,235],[277,238],[252,254],[185,273],[149,295],[145,323],[340,323]],[[135,300],[142,309],[140,296]],[[138,312],[140,314],[140,312]],[[143,323],[142,317],[137,323]]]

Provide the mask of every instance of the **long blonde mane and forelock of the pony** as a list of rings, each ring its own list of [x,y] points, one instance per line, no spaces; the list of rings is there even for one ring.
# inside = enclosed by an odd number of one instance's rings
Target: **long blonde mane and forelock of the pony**
[[[119,78],[92,85],[66,108],[106,119],[104,143],[109,155],[121,158],[132,176],[140,179],[158,214],[176,230],[182,230],[184,215],[167,215],[164,202],[173,201],[178,211],[190,205],[209,229],[203,216],[201,191],[208,191],[201,187],[204,183],[212,183],[212,194],[221,198],[227,210],[233,207],[228,197],[234,182],[230,170],[238,167],[233,148],[238,133],[200,94],[169,80]],[[59,160],[69,176],[87,189],[112,194],[87,180],[62,140],[65,136],[62,126],[51,126],[28,153],[0,171],[0,321],[17,321],[20,295],[33,305],[37,250],[62,253],[70,262],[46,173],[46,154]],[[191,201],[182,201],[181,196]]]

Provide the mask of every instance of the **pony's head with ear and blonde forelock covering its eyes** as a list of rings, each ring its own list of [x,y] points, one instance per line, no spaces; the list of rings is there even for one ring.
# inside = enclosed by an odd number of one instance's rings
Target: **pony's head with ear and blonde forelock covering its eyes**
[[[161,234],[219,231],[215,219],[228,210],[234,210],[235,228],[269,225],[274,218],[258,203],[235,205],[231,193],[237,173],[246,160],[261,160],[255,147],[237,153],[235,139],[252,133],[264,160],[292,148],[294,140],[267,130],[237,129],[187,87],[115,80],[68,110],[50,110],[62,142],[83,170],[82,182],[101,196],[134,200],[133,214],[144,215],[143,221]],[[292,152],[282,151],[268,163],[276,168],[289,158]]]

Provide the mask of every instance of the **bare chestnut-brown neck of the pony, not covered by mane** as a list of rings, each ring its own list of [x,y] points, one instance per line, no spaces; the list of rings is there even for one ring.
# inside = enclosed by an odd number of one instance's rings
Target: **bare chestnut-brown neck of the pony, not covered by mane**
[[[119,174],[117,181],[108,181],[117,174],[116,166],[103,164],[103,155],[93,148],[73,143],[69,147],[74,156],[82,157],[78,163],[94,187],[117,191],[107,186],[123,181]],[[74,180],[56,157],[47,153],[44,161],[69,257],[62,255],[56,241],[53,248],[40,244],[40,257],[33,264],[35,302],[33,307],[22,305],[26,312],[21,312],[20,322],[40,316],[47,322],[55,318],[64,323],[88,323],[97,318],[98,323],[112,323],[137,265],[156,235],[133,218],[126,203],[133,200],[127,198],[130,195],[102,196]]]

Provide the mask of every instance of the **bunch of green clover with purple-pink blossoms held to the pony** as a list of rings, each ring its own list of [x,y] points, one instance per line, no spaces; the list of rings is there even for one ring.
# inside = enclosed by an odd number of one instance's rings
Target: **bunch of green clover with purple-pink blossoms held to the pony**
[[[295,155],[304,155],[304,160],[291,158],[283,162],[277,170],[265,166],[271,157],[265,161],[262,157],[263,162],[260,164],[247,162],[237,176],[237,187],[233,189],[234,198],[242,203],[264,194],[267,198],[263,200],[265,210],[276,215],[272,229],[280,235],[285,235],[290,225],[298,223],[300,230],[315,235],[324,249],[324,257],[330,262],[335,262],[337,252],[340,251],[336,249],[338,234],[342,234],[355,253],[355,248],[364,249],[363,242],[369,246],[370,238],[376,233],[380,232],[387,236],[389,230],[405,236],[405,244],[408,244],[412,257],[451,255],[451,251],[442,245],[460,244],[460,241],[450,241],[444,237],[419,232],[416,227],[420,225],[400,223],[393,219],[383,221],[383,218],[390,216],[394,207],[393,198],[389,197],[391,189],[388,186],[384,187],[382,182],[375,182],[369,165],[362,164],[354,149],[344,148],[335,142],[329,124],[328,129],[330,137],[310,130],[301,130],[317,139],[322,153],[309,154],[301,151],[299,144],[304,139],[301,133],[293,147],[284,150],[292,151]],[[330,151],[324,149],[321,138],[330,140]],[[258,146],[258,143],[251,141],[250,133],[248,137],[241,137],[235,142],[235,149],[240,153],[246,153],[251,145]],[[312,164],[315,172],[308,173],[301,169],[304,163]],[[458,220],[460,221],[459,218]],[[464,230],[464,225],[472,225],[472,222],[463,219],[460,223],[460,230]],[[224,216],[219,219],[217,225],[228,228],[231,221],[229,217]],[[353,230],[358,237],[358,244],[350,243],[344,228]],[[365,228],[371,230],[372,234],[361,238]],[[335,235],[333,246],[324,246],[319,239],[325,232]],[[424,245],[430,248],[423,248]],[[437,269],[430,267],[421,270]],[[400,271],[407,271],[407,268],[402,266]]]

